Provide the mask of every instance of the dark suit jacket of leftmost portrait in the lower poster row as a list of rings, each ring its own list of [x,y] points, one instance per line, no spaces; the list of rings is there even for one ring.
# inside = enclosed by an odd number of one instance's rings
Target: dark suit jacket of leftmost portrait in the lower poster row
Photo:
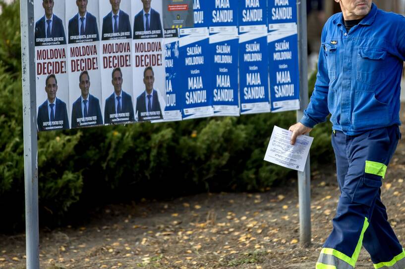
[[[56,102],[56,111],[54,121],[63,121],[62,129],[69,129],[69,119],[67,117],[67,109],[65,102],[63,102],[58,98],[56,98],[55,102]],[[37,116],[38,131],[45,131],[44,122],[49,122],[48,100],[45,100],[45,102],[43,102],[38,107],[38,116]]]

